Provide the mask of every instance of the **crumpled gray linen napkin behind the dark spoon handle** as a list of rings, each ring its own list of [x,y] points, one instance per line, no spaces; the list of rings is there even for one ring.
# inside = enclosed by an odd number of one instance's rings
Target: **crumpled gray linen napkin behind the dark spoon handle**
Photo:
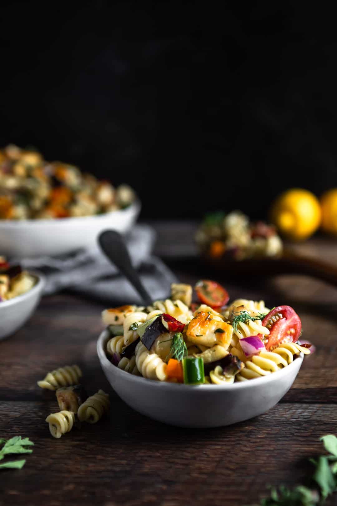
[[[163,299],[176,281],[174,274],[157,257],[151,255],[155,232],[146,225],[137,225],[126,238],[132,265],[153,300]],[[141,304],[130,283],[97,247],[80,250],[70,256],[41,257],[20,260],[25,269],[36,269],[46,276],[44,294],[71,289],[88,297],[113,304]]]

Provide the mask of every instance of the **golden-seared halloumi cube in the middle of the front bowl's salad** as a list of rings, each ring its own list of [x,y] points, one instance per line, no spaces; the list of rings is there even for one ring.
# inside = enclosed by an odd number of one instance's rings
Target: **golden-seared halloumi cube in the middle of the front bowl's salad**
[[[199,311],[189,322],[186,335],[190,342],[197,345],[212,347],[219,344],[227,349],[232,339],[233,327],[212,313]]]

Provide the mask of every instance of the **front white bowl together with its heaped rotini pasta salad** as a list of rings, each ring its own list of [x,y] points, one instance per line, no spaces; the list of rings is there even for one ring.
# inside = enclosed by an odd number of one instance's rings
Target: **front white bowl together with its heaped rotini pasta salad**
[[[266,411],[310,354],[299,316],[264,301],[228,304],[215,281],[195,288],[198,304],[190,285],[173,284],[165,301],[103,311],[98,354],[109,381],[130,406],[172,425],[215,427]]]

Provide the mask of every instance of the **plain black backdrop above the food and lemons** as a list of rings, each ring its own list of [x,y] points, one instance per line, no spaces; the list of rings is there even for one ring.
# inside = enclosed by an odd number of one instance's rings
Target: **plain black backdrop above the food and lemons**
[[[143,218],[319,195],[337,186],[335,17],[293,4],[5,4],[0,146],[128,182]]]

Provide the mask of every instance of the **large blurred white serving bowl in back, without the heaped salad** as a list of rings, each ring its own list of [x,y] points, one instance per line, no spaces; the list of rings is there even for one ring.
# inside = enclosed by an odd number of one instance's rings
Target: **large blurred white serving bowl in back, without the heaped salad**
[[[62,255],[97,245],[105,229],[126,233],[136,221],[139,201],[126,209],[81,218],[0,220],[0,254],[16,258]]]

